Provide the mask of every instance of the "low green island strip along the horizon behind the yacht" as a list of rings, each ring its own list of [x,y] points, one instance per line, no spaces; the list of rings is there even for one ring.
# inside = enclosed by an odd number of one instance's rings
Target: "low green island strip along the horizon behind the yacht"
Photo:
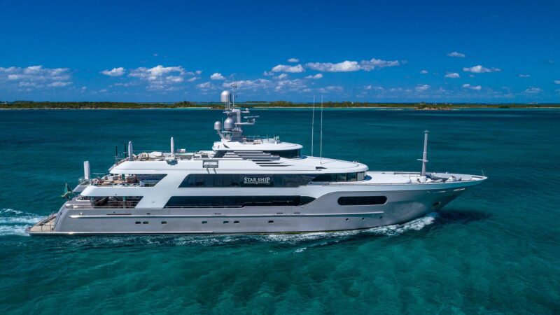
[[[239,107],[248,108],[310,108],[313,104],[287,101],[238,102]],[[315,104],[320,106],[320,104]],[[442,111],[451,109],[545,109],[560,108],[560,104],[477,104],[477,103],[371,103],[371,102],[325,102],[325,108],[353,109],[416,109]],[[15,101],[0,103],[0,109],[223,109],[218,102],[176,102],[176,103],[132,103],[132,102],[32,102]]]

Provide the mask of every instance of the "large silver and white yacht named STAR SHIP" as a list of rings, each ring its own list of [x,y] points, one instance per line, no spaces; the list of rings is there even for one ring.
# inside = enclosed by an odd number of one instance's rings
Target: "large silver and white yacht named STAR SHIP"
[[[297,233],[373,228],[437,211],[484,176],[371,172],[367,165],[301,155],[302,146],[244,136],[258,116],[221,95],[223,123],[211,151],[134,153],[108,174],[84,177],[30,235]],[[244,116],[244,117],[242,117]]]

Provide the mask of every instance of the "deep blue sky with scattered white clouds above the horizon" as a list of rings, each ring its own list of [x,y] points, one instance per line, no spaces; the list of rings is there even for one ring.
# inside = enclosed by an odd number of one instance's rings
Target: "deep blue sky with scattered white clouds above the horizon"
[[[0,1],[0,100],[560,102],[559,1]]]

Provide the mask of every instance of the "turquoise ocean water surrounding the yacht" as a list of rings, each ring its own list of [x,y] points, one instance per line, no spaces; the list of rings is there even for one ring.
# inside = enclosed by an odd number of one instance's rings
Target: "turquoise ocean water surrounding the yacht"
[[[247,134],[310,153],[309,110],[255,110]],[[316,113],[318,114],[318,112]],[[442,211],[360,232],[28,237],[82,163],[209,149],[220,111],[0,111],[2,314],[554,314],[560,312],[560,111],[325,109],[323,155],[374,170],[489,180]],[[316,116],[318,118],[318,116]],[[315,154],[319,149],[316,121]]]

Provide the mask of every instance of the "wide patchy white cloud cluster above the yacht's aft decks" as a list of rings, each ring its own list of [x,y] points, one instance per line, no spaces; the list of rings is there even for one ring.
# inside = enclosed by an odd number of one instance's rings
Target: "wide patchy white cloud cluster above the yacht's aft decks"
[[[154,66],[153,68],[140,67],[130,71],[128,76],[139,78],[148,83],[148,90],[169,90],[172,85],[181,83],[187,73],[182,66]]]

